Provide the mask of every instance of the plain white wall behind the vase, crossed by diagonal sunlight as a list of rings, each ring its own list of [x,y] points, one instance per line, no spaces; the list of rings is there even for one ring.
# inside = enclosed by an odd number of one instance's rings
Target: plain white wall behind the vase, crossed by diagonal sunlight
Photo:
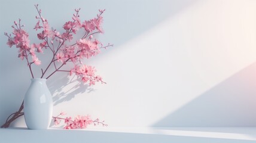
[[[56,29],[74,8],[84,19],[105,8],[99,39],[115,45],[86,61],[107,85],[73,87],[66,74],[48,80],[54,114],[91,114],[109,126],[256,125],[256,1],[2,1],[0,33],[22,18],[36,41],[36,3]],[[31,77],[0,38],[2,124]]]

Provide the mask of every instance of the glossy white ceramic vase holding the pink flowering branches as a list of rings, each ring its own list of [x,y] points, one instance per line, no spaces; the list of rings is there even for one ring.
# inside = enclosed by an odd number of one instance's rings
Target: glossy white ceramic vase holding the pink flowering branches
[[[24,116],[28,129],[48,129],[53,113],[53,98],[46,79],[31,79],[24,98]]]

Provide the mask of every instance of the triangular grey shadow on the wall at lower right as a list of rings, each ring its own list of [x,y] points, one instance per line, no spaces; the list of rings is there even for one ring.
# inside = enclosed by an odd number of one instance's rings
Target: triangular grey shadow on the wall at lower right
[[[224,80],[154,127],[256,126],[256,63]]]

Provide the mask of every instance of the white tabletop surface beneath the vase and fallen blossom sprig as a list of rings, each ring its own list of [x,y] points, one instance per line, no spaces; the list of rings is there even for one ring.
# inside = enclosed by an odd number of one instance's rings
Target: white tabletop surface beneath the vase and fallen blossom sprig
[[[0,142],[256,142],[256,128],[0,129]]]

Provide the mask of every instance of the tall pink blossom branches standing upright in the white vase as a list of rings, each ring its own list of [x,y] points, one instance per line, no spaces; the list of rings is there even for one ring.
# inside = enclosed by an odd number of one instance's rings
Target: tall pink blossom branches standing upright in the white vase
[[[56,29],[50,28],[48,20],[42,17],[42,11],[38,9],[38,5],[35,5],[38,15],[36,15],[37,23],[34,27],[36,31],[41,30],[37,37],[42,42],[30,43],[28,33],[23,29],[23,25],[14,21],[13,35],[14,37],[5,33],[8,37],[8,46],[16,45],[19,48],[19,55],[22,60],[26,59],[29,69],[32,71],[32,64],[40,65],[41,61],[36,56],[36,52],[43,53],[43,49],[49,49],[52,54],[52,59],[45,70],[42,70],[41,78],[48,79],[57,71],[69,72],[69,75],[75,73],[80,77],[81,82],[89,83],[89,85],[95,85],[95,82],[101,82],[102,77],[95,75],[95,68],[83,64],[84,58],[94,57],[100,53],[100,48],[107,48],[112,46],[110,44],[103,46],[97,39],[93,38],[93,35],[97,33],[103,33],[102,14],[105,10],[99,10],[99,14],[91,20],[80,20],[79,9],[75,9],[75,13],[72,16],[72,20],[67,21],[63,25],[64,32],[60,33]],[[74,40],[74,35],[78,30],[82,30],[84,35]],[[71,43],[74,42],[74,43]],[[73,67],[69,69],[63,69],[66,63],[73,63]],[[49,67],[53,67],[54,71],[48,73]],[[66,66],[67,67],[67,66]],[[48,75],[46,76],[46,74]]]

